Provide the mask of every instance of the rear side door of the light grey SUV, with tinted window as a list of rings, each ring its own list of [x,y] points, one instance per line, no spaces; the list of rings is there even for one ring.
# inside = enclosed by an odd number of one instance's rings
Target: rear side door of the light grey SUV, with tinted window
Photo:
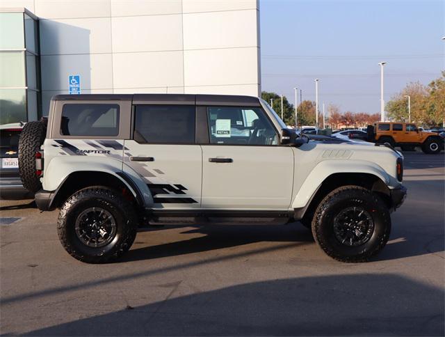
[[[195,104],[137,104],[125,141],[129,167],[152,191],[156,209],[201,205],[202,150],[195,143]]]

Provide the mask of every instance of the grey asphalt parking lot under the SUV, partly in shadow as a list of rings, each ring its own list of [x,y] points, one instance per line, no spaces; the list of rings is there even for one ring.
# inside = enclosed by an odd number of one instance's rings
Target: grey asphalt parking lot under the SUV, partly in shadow
[[[140,230],[123,260],[65,253],[58,212],[1,201],[1,334],[444,336],[445,157],[405,153],[408,198],[375,260],[300,224]]]

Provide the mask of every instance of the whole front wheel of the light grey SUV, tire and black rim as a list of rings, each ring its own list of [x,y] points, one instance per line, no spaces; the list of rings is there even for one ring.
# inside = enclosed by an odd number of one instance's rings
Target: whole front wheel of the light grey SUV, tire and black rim
[[[391,217],[372,191],[344,186],[327,194],[315,212],[312,233],[316,243],[342,262],[365,262],[388,241]]]

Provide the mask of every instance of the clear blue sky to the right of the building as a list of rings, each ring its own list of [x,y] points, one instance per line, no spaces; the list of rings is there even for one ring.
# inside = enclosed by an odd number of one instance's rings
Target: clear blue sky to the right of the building
[[[375,113],[378,62],[387,62],[385,101],[445,70],[445,0],[261,0],[260,16],[261,88],[292,103],[296,86],[315,100],[318,78],[320,109]]]

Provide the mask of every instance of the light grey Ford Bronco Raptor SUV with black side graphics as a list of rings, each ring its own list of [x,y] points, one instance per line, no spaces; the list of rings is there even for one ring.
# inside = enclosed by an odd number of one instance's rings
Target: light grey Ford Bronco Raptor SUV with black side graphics
[[[390,146],[309,141],[264,100],[234,95],[57,95],[25,125],[19,171],[40,210],[60,208],[66,251],[90,263],[172,217],[301,221],[327,255],[366,261],[406,196]]]

